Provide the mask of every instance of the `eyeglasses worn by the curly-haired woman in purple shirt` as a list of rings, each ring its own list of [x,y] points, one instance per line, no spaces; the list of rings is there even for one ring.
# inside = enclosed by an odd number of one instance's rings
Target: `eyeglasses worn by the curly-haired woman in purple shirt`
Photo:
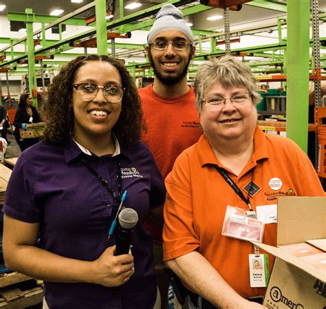
[[[91,83],[74,84],[77,96],[80,100],[91,101],[94,100],[98,94],[98,89],[102,89],[105,99],[110,103],[119,103],[122,100],[124,87],[120,85],[99,86]]]

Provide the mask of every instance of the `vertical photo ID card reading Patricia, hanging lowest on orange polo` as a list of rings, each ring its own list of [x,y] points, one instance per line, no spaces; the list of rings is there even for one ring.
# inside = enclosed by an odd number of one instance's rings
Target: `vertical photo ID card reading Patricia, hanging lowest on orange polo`
[[[270,279],[270,268],[267,254],[249,255],[250,286],[252,288],[265,288]]]

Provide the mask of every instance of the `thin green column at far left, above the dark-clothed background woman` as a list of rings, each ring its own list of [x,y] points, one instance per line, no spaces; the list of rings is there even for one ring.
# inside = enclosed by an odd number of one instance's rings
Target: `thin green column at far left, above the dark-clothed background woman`
[[[34,56],[34,39],[33,39],[33,11],[27,8],[25,13],[28,14],[28,21],[26,22],[27,32],[27,47],[28,47],[28,81],[29,90],[32,96],[33,89],[36,88],[36,75],[35,75],[35,56]],[[33,105],[37,109],[37,98],[33,98]]]

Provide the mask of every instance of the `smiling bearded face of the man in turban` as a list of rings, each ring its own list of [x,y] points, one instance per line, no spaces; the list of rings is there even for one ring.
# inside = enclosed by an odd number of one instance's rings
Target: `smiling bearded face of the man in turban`
[[[157,39],[168,42],[181,39],[189,43],[188,36],[184,32],[173,29],[157,33],[151,40],[151,43]],[[164,85],[175,85],[184,79],[193,53],[194,47],[191,47],[191,45],[188,45],[186,50],[174,50],[172,44],[169,44],[166,50],[155,50],[152,45],[147,49],[155,76]]]

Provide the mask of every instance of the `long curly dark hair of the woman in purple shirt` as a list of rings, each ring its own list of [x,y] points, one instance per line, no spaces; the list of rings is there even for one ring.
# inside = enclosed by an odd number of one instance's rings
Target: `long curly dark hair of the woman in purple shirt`
[[[44,140],[60,144],[67,140],[74,130],[74,111],[72,109],[72,91],[80,67],[90,61],[107,61],[119,71],[122,87],[122,111],[112,131],[119,142],[126,147],[140,140],[145,124],[137,87],[127,69],[115,58],[105,55],[78,56],[61,69],[48,87],[48,100],[45,106],[46,126]]]

